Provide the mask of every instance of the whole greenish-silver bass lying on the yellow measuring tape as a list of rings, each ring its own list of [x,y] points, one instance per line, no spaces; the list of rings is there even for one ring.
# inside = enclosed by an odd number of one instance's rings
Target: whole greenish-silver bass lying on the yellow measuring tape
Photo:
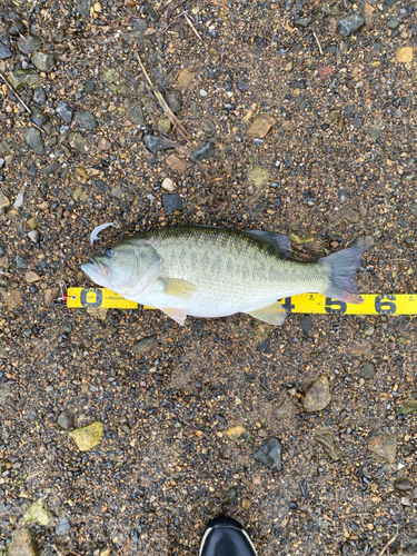
[[[160,309],[181,326],[187,316],[237,312],[282,325],[287,311],[279,299],[298,294],[363,302],[355,282],[361,248],[314,262],[289,259],[289,251],[281,234],[190,225],[135,234],[93,254],[81,269],[99,286]]]

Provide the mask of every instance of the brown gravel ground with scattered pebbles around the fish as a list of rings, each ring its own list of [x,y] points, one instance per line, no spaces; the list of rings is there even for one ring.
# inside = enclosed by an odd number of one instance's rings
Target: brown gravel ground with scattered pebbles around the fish
[[[0,554],[196,555],[219,513],[417,554],[414,317],[52,304],[108,221],[359,242],[360,291],[416,291],[416,37],[413,0],[1,2]]]

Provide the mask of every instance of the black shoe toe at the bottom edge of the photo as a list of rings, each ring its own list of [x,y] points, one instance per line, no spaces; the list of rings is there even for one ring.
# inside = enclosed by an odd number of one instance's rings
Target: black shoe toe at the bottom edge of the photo
[[[236,519],[216,517],[207,525],[199,556],[257,556],[249,535]]]

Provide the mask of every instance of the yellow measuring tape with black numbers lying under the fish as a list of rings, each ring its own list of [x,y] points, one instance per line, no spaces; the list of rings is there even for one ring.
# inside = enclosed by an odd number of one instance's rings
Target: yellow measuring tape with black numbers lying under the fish
[[[366,294],[360,305],[337,301],[320,294],[301,294],[281,300],[288,312],[338,315],[417,315],[417,294]],[[69,288],[67,307],[97,307],[103,309],[137,309],[135,301],[106,288]],[[143,307],[151,309],[152,307]]]

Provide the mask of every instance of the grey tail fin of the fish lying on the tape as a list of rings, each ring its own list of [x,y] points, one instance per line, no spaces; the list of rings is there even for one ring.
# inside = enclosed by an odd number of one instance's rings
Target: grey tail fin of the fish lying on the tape
[[[350,247],[318,260],[327,268],[328,286],[322,291],[324,296],[349,304],[364,301],[355,282],[355,272],[359,268],[363,255],[364,249],[360,247]]]

